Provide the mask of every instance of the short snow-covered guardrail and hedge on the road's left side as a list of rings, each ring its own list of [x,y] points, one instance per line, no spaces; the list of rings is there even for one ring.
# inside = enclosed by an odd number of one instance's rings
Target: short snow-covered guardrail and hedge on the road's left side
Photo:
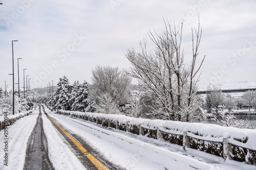
[[[31,110],[26,111],[25,113],[18,114],[18,115],[8,115],[8,117],[2,115],[0,117],[0,130],[5,129],[5,127],[14,124],[17,120],[29,115],[30,113],[32,113]]]

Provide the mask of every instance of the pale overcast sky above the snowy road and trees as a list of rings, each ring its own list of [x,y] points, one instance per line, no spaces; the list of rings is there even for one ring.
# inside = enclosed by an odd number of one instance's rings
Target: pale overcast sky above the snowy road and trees
[[[20,88],[23,69],[30,84],[45,87],[66,76],[70,83],[91,83],[96,65],[131,66],[127,48],[139,51],[148,30],[161,32],[163,19],[184,18],[183,44],[191,59],[191,27],[203,29],[199,60],[205,55],[200,87],[209,83],[256,82],[256,1],[157,1],[157,0],[0,0],[0,87],[12,85],[14,74]],[[133,80],[135,83],[136,81]],[[15,85],[17,87],[17,85]]]

